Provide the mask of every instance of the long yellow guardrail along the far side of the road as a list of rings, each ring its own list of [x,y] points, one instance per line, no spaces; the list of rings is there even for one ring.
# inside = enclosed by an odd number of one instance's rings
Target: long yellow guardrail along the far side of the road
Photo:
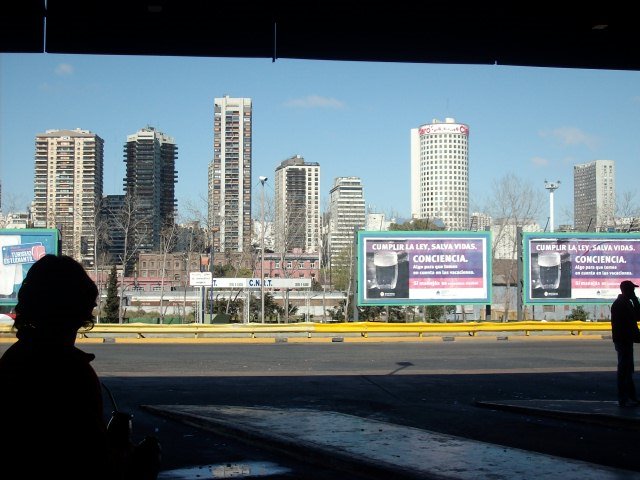
[[[581,335],[583,332],[610,332],[610,322],[464,322],[464,323],[382,323],[382,322],[349,322],[349,323],[292,323],[292,324],[200,324],[157,325],[146,323],[108,324],[99,323],[92,329],[80,331],[80,338],[100,338],[127,336],[135,338],[149,337],[241,337],[256,338],[258,336],[282,336],[283,334],[322,337],[330,335],[351,334],[367,338],[369,334],[385,334],[387,336],[417,337],[434,334],[466,334],[476,336],[481,332],[520,332],[529,336],[534,332],[565,332],[570,335]],[[0,334],[11,334],[11,326],[0,326]]]

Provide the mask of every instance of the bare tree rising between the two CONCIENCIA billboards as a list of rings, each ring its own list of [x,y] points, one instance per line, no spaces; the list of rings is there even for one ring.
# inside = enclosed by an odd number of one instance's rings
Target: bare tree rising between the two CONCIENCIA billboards
[[[530,181],[522,179],[513,173],[507,173],[493,183],[493,197],[491,199],[491,215],[494,220],[493,245],[491,246],[491,261],[496,258],[496,249],[500,245],[508,245],[511,262],[506,274],[506,292],[504,299],[504,317],[509,318],[511,278],[515,278],[517,268],[517,228],[530,225],[540,214],[544,205],[544,194],[533,186]]]

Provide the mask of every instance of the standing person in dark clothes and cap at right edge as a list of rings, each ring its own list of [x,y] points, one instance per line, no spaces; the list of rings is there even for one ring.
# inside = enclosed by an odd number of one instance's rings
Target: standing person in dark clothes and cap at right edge
[[[620,295],[611,305],[611,337],[618,353],[618,405],[638,406],[633,383],[633,344],[640,343],[640,303],[635,294],[638,285],[630,280],[620,283]]]

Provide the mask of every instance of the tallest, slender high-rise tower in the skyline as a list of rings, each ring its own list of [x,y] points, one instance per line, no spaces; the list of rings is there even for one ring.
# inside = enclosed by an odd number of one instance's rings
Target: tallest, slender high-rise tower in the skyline
[[[214,100],[208,188],[208,235],[214,252],[251,250],[252,124],[250,98]]]

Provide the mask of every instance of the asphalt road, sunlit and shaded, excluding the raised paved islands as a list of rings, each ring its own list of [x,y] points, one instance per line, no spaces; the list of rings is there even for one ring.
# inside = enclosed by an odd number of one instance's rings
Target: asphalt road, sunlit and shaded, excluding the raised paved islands
[[[610,339],[526,337],[384,343],[91,344],[135,434],[156,434],[164,468],[269,461],[268,478],[355,479],[264,445],[156,417],[141,405],[314,408],[640,472],[637,430],[479,408],[519,399],[615,400]],[[0,344],[0,352],[7,346]]]

